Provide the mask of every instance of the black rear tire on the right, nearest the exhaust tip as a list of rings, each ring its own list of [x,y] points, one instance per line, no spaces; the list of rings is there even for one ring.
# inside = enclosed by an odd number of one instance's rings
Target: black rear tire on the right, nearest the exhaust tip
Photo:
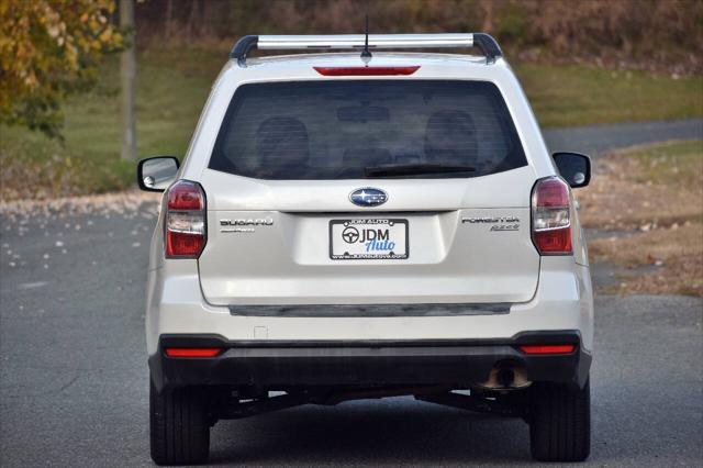
[[[583,461],[591,452],[591,390],[558,383],[531,389],[529,447],[539,461]]]

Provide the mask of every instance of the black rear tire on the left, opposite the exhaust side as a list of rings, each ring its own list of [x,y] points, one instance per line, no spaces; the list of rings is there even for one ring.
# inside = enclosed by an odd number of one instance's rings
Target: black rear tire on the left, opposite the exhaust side
[[[205,392],[181,388],[149,389],[152,459],[157,465],[194,465],[208,461],[210,419]]]

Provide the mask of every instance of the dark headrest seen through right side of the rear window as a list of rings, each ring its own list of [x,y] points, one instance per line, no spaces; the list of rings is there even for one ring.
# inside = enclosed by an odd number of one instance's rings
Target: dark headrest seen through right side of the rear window
[[[428,161],[472,165],[478,159],[478,138],[473,119],[458,110],[429,115],[425,130],[425,157]]]

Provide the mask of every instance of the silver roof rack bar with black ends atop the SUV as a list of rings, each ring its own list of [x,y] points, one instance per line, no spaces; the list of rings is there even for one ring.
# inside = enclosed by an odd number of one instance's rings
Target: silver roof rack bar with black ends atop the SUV
[[[258,49],[362,49],[365,34],[339,35],[249,35],[234,45],[230,58],[236,58],[239,66],[246,66],[247,55]],[[484,33],[453,34],[369,34],[369,48],[458,48],[478,47],[486,56],[487,64],[493,64],[503,56],[498,42]]]

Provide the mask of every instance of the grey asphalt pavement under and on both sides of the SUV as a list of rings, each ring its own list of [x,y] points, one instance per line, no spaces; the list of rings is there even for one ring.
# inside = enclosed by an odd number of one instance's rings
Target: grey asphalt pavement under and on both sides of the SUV
[[[144,290],[155,207],[141,201],[0,214],[3,467],[150,465]],[[587,465],[703,465],[703,300],[602,296],[595,310]],[[522,421],[412,398],[220,422],[211,460],[534,465]]]

